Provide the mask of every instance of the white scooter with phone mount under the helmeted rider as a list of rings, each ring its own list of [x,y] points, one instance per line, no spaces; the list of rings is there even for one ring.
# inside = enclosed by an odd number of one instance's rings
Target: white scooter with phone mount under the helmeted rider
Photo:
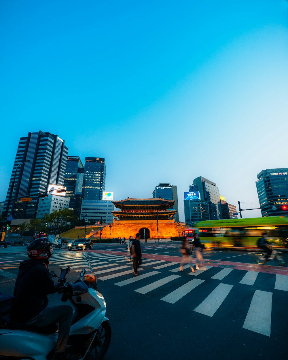
[[[77,360],[98,360],[106,354],[111,341],[111,326],[105,317],[106,303],[97,291],[97,280],[93,272],[85,276],[85,270],[75,283],[66,283],[70,271],[61,269],[58,282],[63,284],[62,301],[75,307],[70,329],[67,351]],[[57,276],[54,271],[52,277]],[[90,280],[90,281],[87,281]],[[57,342],[57,325],[35,327],[8,323],[0,327],[0,360],[49,360]]]

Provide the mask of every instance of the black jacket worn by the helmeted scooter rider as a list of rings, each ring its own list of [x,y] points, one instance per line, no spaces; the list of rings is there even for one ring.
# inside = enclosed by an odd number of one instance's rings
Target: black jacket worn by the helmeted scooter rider
[[[14,287],[13,321],[25,323],[48,305],[47,294],[53,293],[54,281],[41,260],[21,262]]]

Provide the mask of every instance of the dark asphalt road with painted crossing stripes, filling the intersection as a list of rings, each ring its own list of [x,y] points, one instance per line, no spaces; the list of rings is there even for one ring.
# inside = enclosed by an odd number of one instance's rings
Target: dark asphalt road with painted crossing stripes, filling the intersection
[[[142,246],[139,276],[123,256],[124,244],[92,250],[54,250],[49,269],[71,266],[69,281],[87,256],[107,303],[112,341],[105,359],[287,358],[288,268],[272,260],[253,264],[253,253],[214,249],[203,253],[207,270],[181,273],[179,244]],[[24,247],[0,250],[1,291],[13,293]],[[195,259],[194,259],[195,260]],[[60,302],[58,294],[49,297]]]

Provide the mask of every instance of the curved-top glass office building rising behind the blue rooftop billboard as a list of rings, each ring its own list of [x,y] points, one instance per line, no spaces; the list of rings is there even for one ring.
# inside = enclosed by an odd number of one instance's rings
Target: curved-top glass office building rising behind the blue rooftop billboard
[[[208,213],[210,220],[219,220],[220,214],[220,193],[219,188],[211,180],[205,179],[205,177],[199,176],[193,181],[194,186],[201,195],[201,200],[208,202]]]

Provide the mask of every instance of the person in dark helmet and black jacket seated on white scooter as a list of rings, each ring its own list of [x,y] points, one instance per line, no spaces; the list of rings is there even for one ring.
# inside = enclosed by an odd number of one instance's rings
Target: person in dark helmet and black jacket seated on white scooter
[[[47,297],[47,294],[61,292],[61,284],[54,283],[48,270],[52,249],[57,245],[56,240],[48,238],[38,238],[28,244],[29,259],[20,263],[14,287],[13,320],[37,327],[59,323],[55,354],[51,360],[67,360],[73,358],[66,352],[73,310],[69,305],[48,306]]]

